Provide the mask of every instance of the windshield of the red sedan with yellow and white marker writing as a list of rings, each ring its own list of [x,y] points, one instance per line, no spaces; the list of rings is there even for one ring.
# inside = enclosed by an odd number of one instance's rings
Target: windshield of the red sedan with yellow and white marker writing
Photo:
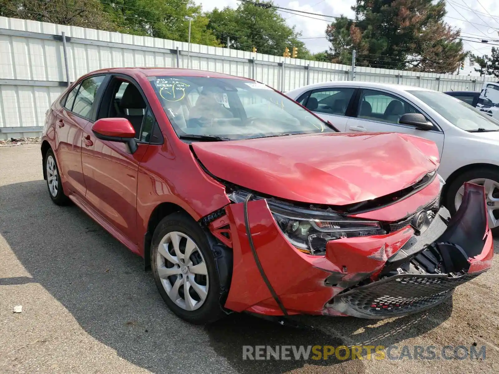
[[[204,136],[205,140],[236,140],[336,132],[261,83],[191,76],[149,79],[175,132],[185,139]]]

